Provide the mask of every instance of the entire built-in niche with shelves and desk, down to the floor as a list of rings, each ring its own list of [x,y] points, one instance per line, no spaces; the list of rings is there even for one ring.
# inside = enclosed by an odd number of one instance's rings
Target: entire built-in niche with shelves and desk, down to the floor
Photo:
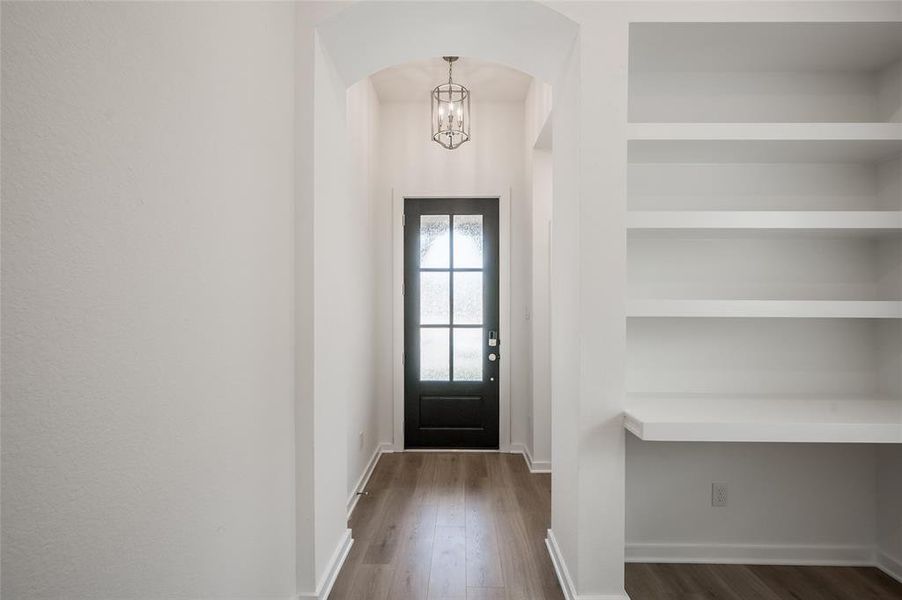
[[[902,577],[902,21],[634,23],[628,83],[628,555]]]

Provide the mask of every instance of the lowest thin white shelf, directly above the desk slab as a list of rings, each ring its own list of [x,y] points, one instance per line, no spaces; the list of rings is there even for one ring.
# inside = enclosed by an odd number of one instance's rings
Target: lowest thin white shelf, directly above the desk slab
[[[628,317],[902,319],[891,300],[631,300]]]

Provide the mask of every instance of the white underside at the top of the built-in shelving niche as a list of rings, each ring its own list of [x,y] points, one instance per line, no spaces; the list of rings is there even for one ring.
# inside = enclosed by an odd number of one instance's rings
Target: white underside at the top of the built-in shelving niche
[[[637,23],[632,71],[872,71],[902,54],[902,23]]]

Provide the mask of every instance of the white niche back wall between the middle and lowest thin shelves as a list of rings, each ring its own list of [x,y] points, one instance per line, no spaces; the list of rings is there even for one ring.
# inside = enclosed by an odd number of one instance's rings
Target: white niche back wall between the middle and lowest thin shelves
[[[875,256],[886,246],[886,266]],[[632,236],[631,298],[892,300],[899,247],[867,237]],[[894,250],[892,253],[889,250]],[[894,257],[893,257],[894,254]],[[896,259],[896,265],[892,264]]]

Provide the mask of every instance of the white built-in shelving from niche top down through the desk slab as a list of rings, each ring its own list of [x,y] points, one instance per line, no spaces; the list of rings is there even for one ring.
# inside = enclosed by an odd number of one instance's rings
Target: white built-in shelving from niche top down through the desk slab
[[[902,443],[902,23],[630,48],[627,430]]]

